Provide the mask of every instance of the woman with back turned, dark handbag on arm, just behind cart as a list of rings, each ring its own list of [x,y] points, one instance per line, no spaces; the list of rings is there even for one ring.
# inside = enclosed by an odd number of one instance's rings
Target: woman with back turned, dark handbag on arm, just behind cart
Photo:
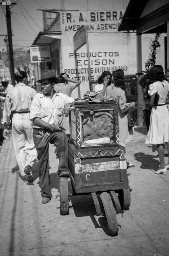
[[[125,85],[123,69],[113,71],[114,86],[110,91],[106,91],[106,95],[111,95],[113,98],[119,97],[118,115],[119,115],[119,144],[126,146],[133,138],[133,128],[128,126],[127,112],[135,107],[135,102],[126,105],[126,93],[121,89]],[[127,168],[134,167],[134,164],[127,162]],[[129,174],[129,173],[128,173]]]

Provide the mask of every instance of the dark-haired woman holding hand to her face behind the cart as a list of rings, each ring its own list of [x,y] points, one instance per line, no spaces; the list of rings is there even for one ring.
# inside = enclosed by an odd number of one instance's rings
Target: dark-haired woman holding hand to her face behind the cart
[[[112,74],[106,70],[101,76],[98,78],[98,84],[95,86],[95,92],[102,93],[103,96],[108,88],[113,88],[113,84],[111,83]]]

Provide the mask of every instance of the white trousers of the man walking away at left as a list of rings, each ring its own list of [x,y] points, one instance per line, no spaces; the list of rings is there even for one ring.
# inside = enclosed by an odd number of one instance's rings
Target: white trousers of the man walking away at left
[[[25,167],[27,165],[32,167],[37,158],[37,150],[33,141],[32,122],[28,118],[29,113],[14,113],[12,118],[12,140],[21,176],[25,175]]]

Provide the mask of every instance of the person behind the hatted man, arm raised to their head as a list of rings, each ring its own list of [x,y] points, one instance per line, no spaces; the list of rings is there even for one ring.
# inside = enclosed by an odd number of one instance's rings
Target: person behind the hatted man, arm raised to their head
[[[58,83],[54,85],[54,90],[56,92],[60,92],[66,94],[67,96],[71,97],[72,91],[80,85],[80,81],[69,78],[69,75],[66,73],[61,73],[58,76]],[[70,135],[70,128],[69,128],[69,117],[64,116],[62,120],[62,125],[65,129],[65,133]]]

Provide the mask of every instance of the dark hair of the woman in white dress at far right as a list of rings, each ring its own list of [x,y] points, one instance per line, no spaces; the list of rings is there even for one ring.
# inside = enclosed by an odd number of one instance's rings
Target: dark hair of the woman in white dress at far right
[[[154,65],[148,73],[148,78],[153,82],[162,82],[164,80],[164,77],[164,70],[161,65]]]

